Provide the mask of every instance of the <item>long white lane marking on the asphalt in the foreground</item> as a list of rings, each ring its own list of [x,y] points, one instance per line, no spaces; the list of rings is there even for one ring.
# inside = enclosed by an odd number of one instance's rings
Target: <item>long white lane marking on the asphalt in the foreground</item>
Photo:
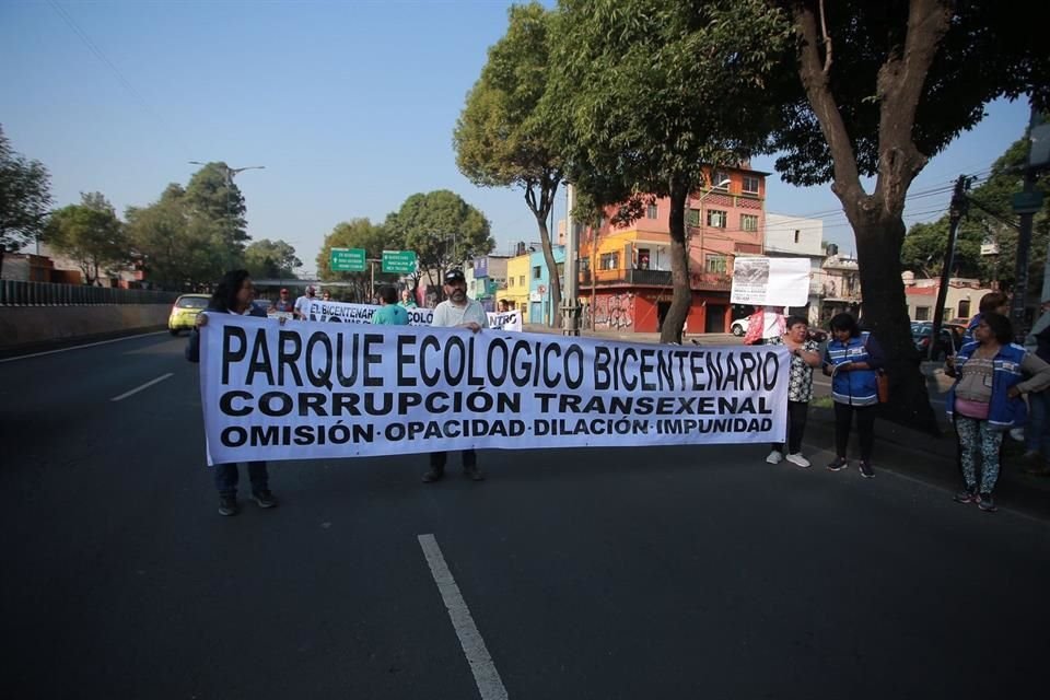
[[[489,650],[485,646],[481,632],[470,617],[467,603],[459,594],[459,586],[456,585],[456,580],[445,564],[438,540],[433,535],[420,535],[419,546],[423,548],[423,556],[430,564],[430,573],[434,576],[434,583],[438,584],[441,599],[448,608],[452,627],[455,628],[459,645],[463,646],[463,653],[466,654],[467,662],[470,664],[470,672],[478,685],[478,691],[481,692],[481,700],[505,700],[506,688],[503,687],[500,673],[495,669]]]

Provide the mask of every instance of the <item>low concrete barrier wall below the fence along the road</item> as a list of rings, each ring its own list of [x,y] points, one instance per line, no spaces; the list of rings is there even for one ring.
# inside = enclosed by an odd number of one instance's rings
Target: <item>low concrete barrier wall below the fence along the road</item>
[[[0,349],[167,327],[170,304],[0,306]]]

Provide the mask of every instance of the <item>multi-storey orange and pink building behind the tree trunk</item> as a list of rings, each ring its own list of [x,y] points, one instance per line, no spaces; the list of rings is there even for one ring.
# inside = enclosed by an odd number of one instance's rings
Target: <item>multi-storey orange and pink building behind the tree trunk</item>
[[[715,186],[686,200],[692,290],[686,332],[730,331],[734,260],[762,254],[767,175],[744,167],[709,172],[707,182]],[[595,329],[656,332],[674,293],[670,199],[655,199],[626,226],[610,223],[616,211],[609,207],[602,225],[581,235],[580,298],[586,323]]]

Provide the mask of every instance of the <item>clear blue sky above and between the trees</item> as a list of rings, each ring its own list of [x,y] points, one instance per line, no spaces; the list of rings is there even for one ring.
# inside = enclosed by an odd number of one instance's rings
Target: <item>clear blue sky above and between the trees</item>
[[[452,189],[492,222],[497,252],[536,241],[520,190],[481,189],[456,170],[452,130],[509,2],[70,2],[0,0],[0,124],[51,173],[57,206],[101,191],[124,211],[197,166],[243,173],[253,238],[283,238],[305,262],[340,221],[382,221],[410,195]],[[987,171],[1027,122],[1024,103],[988,118],[912,187]],[[752,162],[772,171],[771,158]],[[948,192],[909,202],[936,219]],[[767,209],[820,214],[825,238],[854,248],[827,186],[773,176]],[[555,215],[564,217],[559,197]]]

